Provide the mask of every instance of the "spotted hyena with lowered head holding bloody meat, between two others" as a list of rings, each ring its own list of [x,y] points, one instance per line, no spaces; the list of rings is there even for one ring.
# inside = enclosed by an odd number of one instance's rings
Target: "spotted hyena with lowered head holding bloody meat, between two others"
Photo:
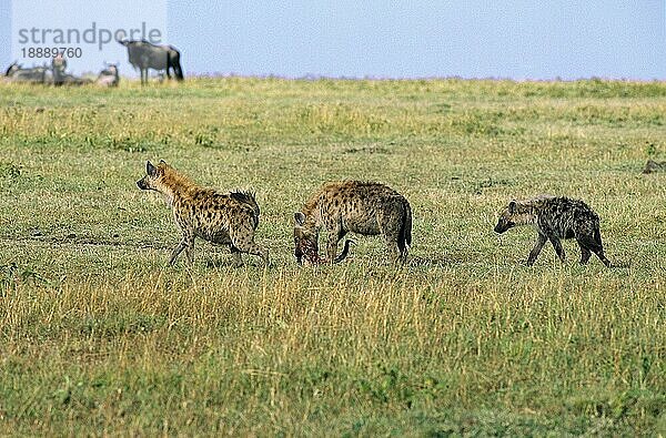
[[[300,212],[294,213],[294,255],[316,264],[342,261],[349,251],[337,254],[337,243],[347,232],[384,236],[394,262],[404,263],[412,244],[412,208],[393,189],[372,182],[345,181],[326,183],[312,195]],[[319,257],[319,233],[327,234],[327,259]]]

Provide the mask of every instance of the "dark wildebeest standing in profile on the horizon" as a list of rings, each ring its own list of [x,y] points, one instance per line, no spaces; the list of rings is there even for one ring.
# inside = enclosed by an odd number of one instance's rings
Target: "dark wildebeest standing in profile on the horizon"
[[[173,45],[155,45],[148,41],[118,41],[128,48],[130,64],[141,71],[141,83],[148,83],[148,69],[165,70],[167,78],[173,69],[173,74],[179,81],[183,80],[180,65],[180,52]]]

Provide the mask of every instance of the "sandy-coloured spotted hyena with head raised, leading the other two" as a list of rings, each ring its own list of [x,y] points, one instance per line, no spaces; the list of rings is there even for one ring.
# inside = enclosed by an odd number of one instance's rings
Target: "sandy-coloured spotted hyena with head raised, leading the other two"
[[[243,264],[241,253],[259,255],[264,264],[269,263],[268,249],[254,243],[260,211],[253,193],[218,193],[200,187],[163,160],[157,166],[149,161],[145,173],[137,185],[167,196],[175,223],[183,233],[169,264],[173,265],[183,249],[190,264],[194,261],[194,237],[229,245],[236,266]]]

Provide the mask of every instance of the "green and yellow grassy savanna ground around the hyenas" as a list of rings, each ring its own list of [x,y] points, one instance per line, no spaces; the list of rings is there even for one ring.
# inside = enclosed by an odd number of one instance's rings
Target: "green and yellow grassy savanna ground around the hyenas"
[[[666,84],[198,79],[0,84],[0,435],[666,434]],[[179,233],[147,160],[255,190],[264,269]],[[408,264],[299,268],[293,212],[377,180]],[[612,262],[523,262],[497,212],[584,198]]]

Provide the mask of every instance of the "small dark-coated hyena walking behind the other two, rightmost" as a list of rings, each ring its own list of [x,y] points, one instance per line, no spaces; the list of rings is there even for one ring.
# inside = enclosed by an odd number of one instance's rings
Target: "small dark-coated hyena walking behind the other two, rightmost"
[[[575,238],[581,246],[581,264],[586,264],[595,253],[610,267],[610,262],[604,255],[599,216],[583,201],[549,195],[512,201],[502,212],[495,232],[504,233],[516,225],[534,225],[536,228],[536,245],[527,258],[528,266],[534,264],[546,241],[551,241],[557,256],[564,262],[564,248],[559,240]]]

